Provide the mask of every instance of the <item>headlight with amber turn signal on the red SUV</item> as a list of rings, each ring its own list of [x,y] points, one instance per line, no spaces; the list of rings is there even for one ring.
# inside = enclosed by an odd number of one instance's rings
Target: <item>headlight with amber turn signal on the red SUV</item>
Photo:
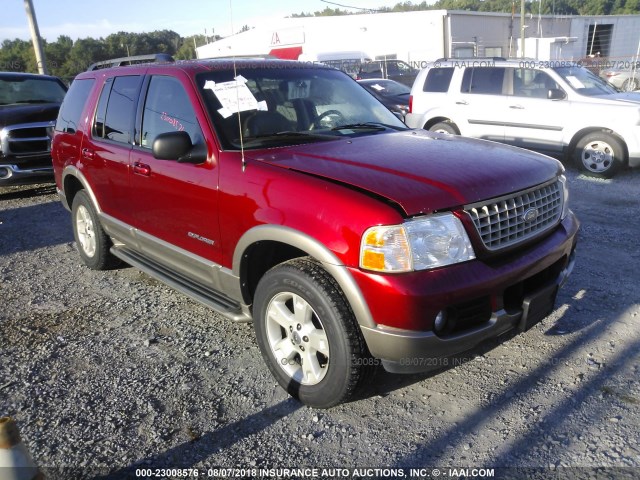
[[[462,222],[451,213],[371,227],[360,247],[360,267],[378,272],[426,270],[474,258]]]

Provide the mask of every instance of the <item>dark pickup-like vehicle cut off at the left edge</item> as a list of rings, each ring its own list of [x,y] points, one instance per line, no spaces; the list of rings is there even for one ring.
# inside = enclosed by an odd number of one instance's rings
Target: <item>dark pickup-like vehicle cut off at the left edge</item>
[[[51,136],[66,91],[57,77],[0,72],[0,187],[53,180]]]

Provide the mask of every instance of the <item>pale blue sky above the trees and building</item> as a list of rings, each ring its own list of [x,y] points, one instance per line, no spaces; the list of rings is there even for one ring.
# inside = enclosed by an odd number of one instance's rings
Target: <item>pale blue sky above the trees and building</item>
[[[183,37],[213,33],[228,36],[244,25],[257,27],[300,12],[325,7],[392,7],[400,0],[32,0],[40,35],[54,42],[106,37],[112,33],[173,30]],[[419,2],[417,2],[419,3]],[[340,4],[340,5],[336,5]],[[0,42],[30,40],[24,0],[0,0]],[[357,11],[353,9],[353,11]],[[327,35],[335,32],[327,32]]]

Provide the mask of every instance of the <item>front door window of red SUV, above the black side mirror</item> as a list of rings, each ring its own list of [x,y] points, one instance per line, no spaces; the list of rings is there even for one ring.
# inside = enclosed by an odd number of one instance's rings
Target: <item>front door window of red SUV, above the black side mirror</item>
[[[182,84],[175,78],[156,75],[149,82],[140,145],[151,148],[155,138],[166,132],[187,132],[194,145],[202,142],[202,131]]]

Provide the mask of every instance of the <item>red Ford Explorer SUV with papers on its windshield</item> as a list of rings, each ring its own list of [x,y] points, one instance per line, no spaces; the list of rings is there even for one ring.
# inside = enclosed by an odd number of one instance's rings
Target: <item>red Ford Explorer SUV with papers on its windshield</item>
[[[315,407],[553,308],[578,221],[559,162],[410,130],[346,74],[243,59],[85,72],[53,139],[93,269],[133,265],[253,321]]]

